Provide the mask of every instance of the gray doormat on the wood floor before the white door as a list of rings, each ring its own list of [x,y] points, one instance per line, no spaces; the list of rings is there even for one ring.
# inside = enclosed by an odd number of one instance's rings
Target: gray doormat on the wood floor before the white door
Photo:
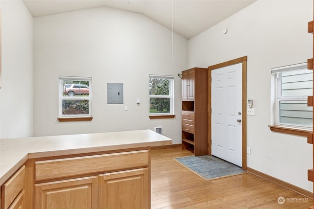
[[[209,155],[188,156],[175,158],[175,160],[205,180],[246,173],[241,167],[233,163]]]

